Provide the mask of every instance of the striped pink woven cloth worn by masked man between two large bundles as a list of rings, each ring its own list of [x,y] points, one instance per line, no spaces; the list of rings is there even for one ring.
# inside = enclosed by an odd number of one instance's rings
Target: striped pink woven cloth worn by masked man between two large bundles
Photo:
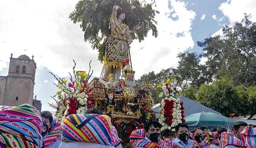
[[[53,142],[60,140],[59,139],[60,135],[61,135],[60,122],[57,120],[52,120],[52,130],[44,139],[44,142],[42,142],[42,146],[46,147],[52,144]]]

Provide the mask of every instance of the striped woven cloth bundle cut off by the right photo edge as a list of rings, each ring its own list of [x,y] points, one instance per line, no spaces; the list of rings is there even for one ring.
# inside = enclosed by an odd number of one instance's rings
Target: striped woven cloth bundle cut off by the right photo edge
[[[256,125],[249,124],[240,132],[241,140],[248,148],[256,148]]]

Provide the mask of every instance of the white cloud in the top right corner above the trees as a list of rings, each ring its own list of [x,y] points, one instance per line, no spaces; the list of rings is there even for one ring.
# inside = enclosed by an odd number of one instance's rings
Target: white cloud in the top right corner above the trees
[[[256,22],[256,2],[255,0],[228,0],[220,4],[219,9],[232,22],[241,21],[244,13],[252,14],[252,21]]]

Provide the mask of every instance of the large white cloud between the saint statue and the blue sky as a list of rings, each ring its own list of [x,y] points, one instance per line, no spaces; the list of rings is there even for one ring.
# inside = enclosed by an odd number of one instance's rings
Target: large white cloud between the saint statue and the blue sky
[[[167,1],[156,1],[156,9],[160,11],[160,14],[156,15],[158,37],[154,38],[149,33],[142,43],[134,41],[131,44],[132,66],[136,71],[136,79],[148,71],[159,72],[171,66],[176,67],[177,53],[194,46],[190,30],[196,13],[187,10],[185,2],[170,0],[170,4],[171,10]],[[168,18],[169,15],[174,18],[178,16],[178,20]],[[176,37],[176,34],[182,32],[182,36]],[[143,49],[140,49],[141,47]]]

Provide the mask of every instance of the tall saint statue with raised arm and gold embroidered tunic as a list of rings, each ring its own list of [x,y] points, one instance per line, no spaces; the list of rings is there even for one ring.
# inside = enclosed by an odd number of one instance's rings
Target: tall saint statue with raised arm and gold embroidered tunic
[[[123,62],[129,57],[130,33],[125,24],[126,14],[122,8],[116,5],[112,9],[110,16],[111,34],[104,45],[104,67],[105,73],[103,79],[113,70],[113,79],[119,79]]]

